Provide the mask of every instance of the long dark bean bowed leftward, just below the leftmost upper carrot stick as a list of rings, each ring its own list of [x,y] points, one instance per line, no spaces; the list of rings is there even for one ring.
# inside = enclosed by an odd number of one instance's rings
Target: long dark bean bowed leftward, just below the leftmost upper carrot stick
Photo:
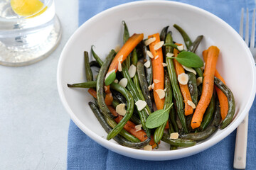
[[[97,91],[97,102],[99,103],[100,109],[102,112],[109,116],[110,118],[114,118],[114,116],[110,113],[110,110],[107,108],[104,98],[103,86],[105,81],[105,75],[107,74],[107,68],[110,66],[112,61],[112,57],[114,56],[114,50],[110,51],[110,54],[107,55],[105,62],[100,67],[99,74],[97,76],[97,84],[96,84],[96,91]]]

